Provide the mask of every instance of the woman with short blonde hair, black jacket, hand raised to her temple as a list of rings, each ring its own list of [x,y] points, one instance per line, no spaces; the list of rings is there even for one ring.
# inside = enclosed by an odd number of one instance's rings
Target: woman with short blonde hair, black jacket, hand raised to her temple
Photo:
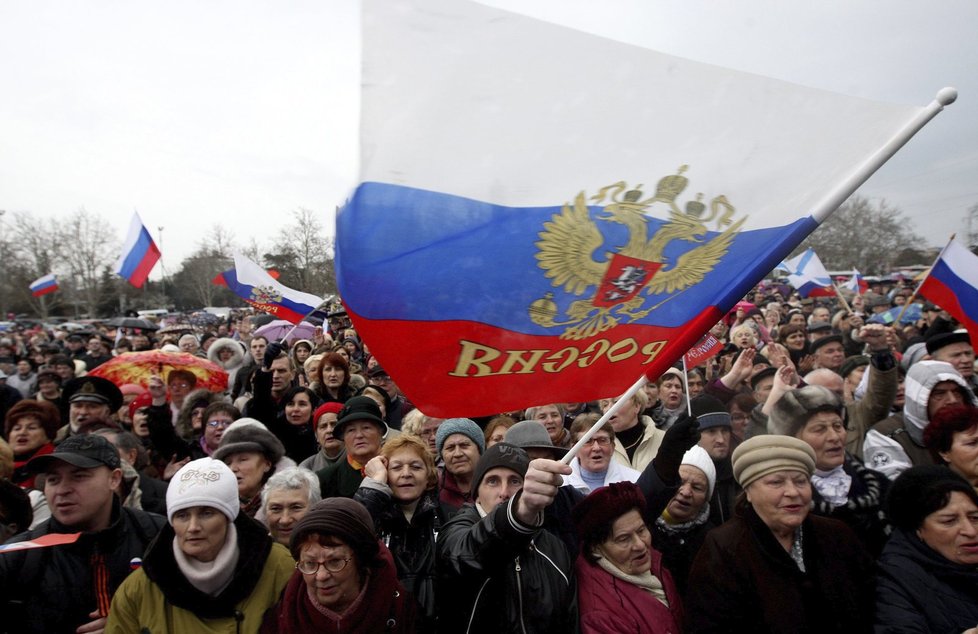
[[[428,446],[401,434],[364,466],[367,477],[353,499],[370,512],[397,565],[397,578],[417,600],[418,629],[434,631],[435,541],[445,522],[438,504],[438,470]]]

